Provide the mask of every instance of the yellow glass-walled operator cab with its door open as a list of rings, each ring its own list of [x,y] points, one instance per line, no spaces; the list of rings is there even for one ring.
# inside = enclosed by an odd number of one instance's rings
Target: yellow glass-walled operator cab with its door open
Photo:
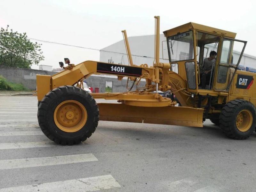
[[[187,23],[164,31],[164,35],[171,70],[187,80],[189,92],[228,91],[246,45],[235,39],[236,33]],[[216,59],[207,63],[205,59],[212,51],[217,53]],[[207,74],[205,82],[203,73]],[[202,87],[204,83],[206,86]]]

